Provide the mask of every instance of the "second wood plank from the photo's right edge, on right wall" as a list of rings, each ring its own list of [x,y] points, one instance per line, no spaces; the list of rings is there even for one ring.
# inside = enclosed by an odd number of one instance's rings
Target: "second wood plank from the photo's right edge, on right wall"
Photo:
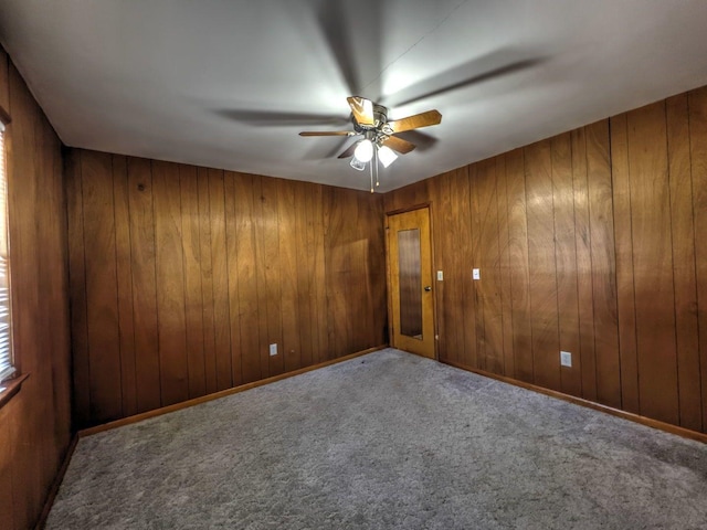
[[[683,427],[700,431],[703,407],[699,377],[699,322],[687,94],[666,100],[666,127],[679,423]]]

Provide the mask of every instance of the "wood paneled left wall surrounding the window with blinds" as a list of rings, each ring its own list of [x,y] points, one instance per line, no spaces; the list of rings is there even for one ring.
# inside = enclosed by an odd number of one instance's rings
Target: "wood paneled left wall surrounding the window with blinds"
[[[66,216],[61,144],[0,49],[14,352],[30,377],[0,409],[0,528],[38,521],[71,441]]]

